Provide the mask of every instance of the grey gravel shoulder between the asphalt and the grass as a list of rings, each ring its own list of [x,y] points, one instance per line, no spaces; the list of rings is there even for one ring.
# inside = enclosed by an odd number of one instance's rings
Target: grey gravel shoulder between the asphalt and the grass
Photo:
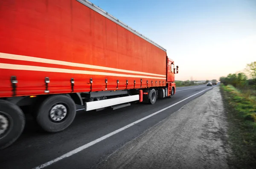
[[[104,169],[227,169],[227,122],[219,87],[110,155]]]

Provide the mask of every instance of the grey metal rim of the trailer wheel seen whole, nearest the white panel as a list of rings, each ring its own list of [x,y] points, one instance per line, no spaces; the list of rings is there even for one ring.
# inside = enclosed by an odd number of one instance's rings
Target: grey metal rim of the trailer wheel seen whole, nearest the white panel
[[[52,121],[60,122],[67,116],[67,107],[63,103],[54,104],[49,111],[49,116]]]

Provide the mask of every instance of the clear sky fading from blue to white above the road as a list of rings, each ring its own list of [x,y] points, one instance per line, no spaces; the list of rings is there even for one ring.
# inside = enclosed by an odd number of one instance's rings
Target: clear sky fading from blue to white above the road
[[[177,80],[219,79],[256,61],[256,0],[90,0],[167,49]]]

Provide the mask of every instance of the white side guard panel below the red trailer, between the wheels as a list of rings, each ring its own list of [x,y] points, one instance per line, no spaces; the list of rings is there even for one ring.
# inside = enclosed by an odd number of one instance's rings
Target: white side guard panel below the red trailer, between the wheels
[[[104,107],[113,106],[116,104],[122,104],[122,103],[127,103],[130,101],[137,101],[137,100],[139,100],[139,95],[85,102],[85,111],[100,109],[100,108],[104,108]]]

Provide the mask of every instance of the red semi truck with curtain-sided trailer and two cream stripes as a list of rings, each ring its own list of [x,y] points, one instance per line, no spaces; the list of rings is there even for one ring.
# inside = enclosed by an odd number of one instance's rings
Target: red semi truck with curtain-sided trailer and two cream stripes
[[[25,106],[60,132],[76,104],[117,109],[175,94],[166,50],[87,0],[1,0],[0,23],[0,148],[23,131]]]

